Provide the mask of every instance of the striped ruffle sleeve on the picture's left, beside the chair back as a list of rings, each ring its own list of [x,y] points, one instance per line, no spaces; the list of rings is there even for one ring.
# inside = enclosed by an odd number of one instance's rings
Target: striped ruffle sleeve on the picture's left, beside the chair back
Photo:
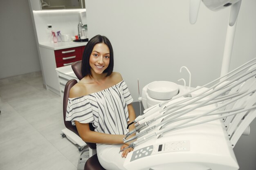
[[[83,124],[92,123],[94,121],[91,104],[88,97],[69,98],[67,103],[66,121],[79,121]]]

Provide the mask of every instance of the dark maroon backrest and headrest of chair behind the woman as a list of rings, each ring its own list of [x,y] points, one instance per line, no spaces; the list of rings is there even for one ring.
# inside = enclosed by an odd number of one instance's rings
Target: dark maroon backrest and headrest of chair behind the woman
[[[80,66],[79,66],[79,62],[80,62]],[[76,62],[75,64],[75,70],[74,73],[77,75],[77,73],[81,73],[81,61],[79,62]],[[72,67],[72,69],[74,69]],[[82,74],[81,74],[82,75]],[[79,77],[78,77],[79,78]],[[80,78],[79,78],[80,79]],[[69,130],[71,130],[72,132],[74,132],[76,135],[79,136],[79,133],[76,129],[76,126],[73,126],[71,121],[66,121],[65,118],[66,118],[66,113],[67,113],[67,102],[68,102],[68,97],[70,95],[70,89],[72,88],[72,86],[74,86],[75,84],[77,83],[76,79],[71,79],[67,82],[67,84],[65,85],[65,90],[64,90],[64,95],[63,95],[63,119],[64,119],[64,124],[65,124],[65,127]],[[91,130],[94,130],[94,127],[92,126],[92,124],[89,124],[90,125],[90,129]],[[89,143],[89,142],[85,142],[90,148],[92,149],[96,149],[96,144],[94,143]]]

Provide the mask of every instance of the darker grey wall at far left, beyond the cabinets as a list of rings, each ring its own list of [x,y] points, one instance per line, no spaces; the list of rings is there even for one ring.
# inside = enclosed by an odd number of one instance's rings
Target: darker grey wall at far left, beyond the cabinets
[[[28,0],[1,0],[0,21],[0,79],[40,71]]]

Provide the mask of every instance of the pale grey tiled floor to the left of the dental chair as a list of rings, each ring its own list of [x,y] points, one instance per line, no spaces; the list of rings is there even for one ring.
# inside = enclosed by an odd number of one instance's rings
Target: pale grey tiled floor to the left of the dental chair
[[[40,72],[0,79],[0,170],[76,170],[79,150],[61,137],[62,99]]]

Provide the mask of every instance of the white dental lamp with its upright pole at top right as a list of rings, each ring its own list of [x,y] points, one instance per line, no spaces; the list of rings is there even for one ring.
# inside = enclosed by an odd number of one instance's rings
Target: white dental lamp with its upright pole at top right
[[[236,32],[236,20],[241,6],[241,1],[242,0],[202,0],[204,5],[212,11],[219,11],[229,6],[231,7],[220,76],[229,72],[229,64]],[[190,0],[189,20],[191,24],[195,24],[197,20],[200,2],[201,0]]]

